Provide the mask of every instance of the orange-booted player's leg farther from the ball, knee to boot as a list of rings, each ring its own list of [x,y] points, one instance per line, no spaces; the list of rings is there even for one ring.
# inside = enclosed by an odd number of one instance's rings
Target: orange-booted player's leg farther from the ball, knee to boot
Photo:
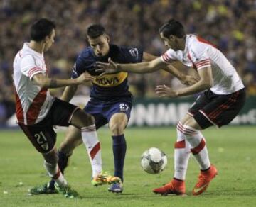
[[[193,195],[196,196],[202,194],[203,191],[206,191],[210,181],[215,178],[218,171],[212,164],[210,164],[206,140],[203,138],[201,126],[196,122],[196,120],[191,117],[185,124],[183,124],[183,130],[186,140],[188,140],[191,145],[191,152],[201,167],[198,182],[192,191]]]

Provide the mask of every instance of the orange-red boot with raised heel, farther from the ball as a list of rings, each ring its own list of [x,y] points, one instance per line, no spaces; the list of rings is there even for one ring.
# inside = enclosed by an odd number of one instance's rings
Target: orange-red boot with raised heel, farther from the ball
[[[203,191],[206,191],[207,187],[210,184],[210,181],[215,178],[215,176],[218,174],[218,171],[215,166],[210,165],[210,169],[207,171],[201,171],[201,173],[198,176],[198,182],[196,186],[193,188],[193,195],[198,196],[203,193]]]

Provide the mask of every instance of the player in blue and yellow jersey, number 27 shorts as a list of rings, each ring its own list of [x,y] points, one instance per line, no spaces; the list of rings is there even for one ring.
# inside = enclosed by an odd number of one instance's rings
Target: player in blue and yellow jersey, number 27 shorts
[[[107,62],[108,58],[111,58],[111,60],[119,63],[136,63],[142,62],[142,60],[154,60],[155,57],[139,48],[119,47],[111,44],[105,28],[97,24],[87,28],[87,38],[90,47],[82,50],[78,56],[73,67],[72,78],[79,77],[84,72],[96,77],[92,84],[90,101],[85,106],[84,111],[95,118],[97,129],[108,123],[112,133],[114,176],[121,178],[123,182],[124,157],[127,150],[124,129],[127,126],[132,109],[132,94],[129,91],[127,82],[128,73],[117,72],[100,75],[101,72],[96,71],[95,62]],[[184,84],[194,82],[194,79],[178,72],[174,67],[169,67],[166,70],[178,77]],[[66,87],[61,99],[70,101],[76,90],[76,86]],[[58,164],[62,172],[67,167],[68,157],[70,157],[75,147],[81,143],[80,131],[75,127],[70,127],[59,149]],[[92,177],[95,177],[102,171],[101,164],[90,161],[92,164]],[[123,191],[122,182],[111,184],[108,190],[114,193],[121,193]],[[97,185],[93,180],[92,184]],[[48,188],[54,189],[54,181],[50,181]]]

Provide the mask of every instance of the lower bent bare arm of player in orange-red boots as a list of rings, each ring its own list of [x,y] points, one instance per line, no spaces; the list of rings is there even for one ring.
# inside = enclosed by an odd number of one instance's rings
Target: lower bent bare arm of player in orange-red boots
[[[213,75],[211,67],[205,67],[198,71],[200,80],[188,86],[184,89],[178,89],[177,91],[169,88],[166,85],[156,86],[156,94],[159,94],[160,97],[177,97],[177,96],[188,96],[195,94],[197,92],[209,89],[213,85]]]

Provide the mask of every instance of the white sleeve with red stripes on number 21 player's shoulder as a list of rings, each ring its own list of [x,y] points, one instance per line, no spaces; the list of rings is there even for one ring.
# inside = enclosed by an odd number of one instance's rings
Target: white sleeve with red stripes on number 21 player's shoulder
[[[45,73],[40,65],[36,62],[36,58],[32,55],[26,55],[21,60],[21,72],[29,79],[32,79],[35,74]]]

